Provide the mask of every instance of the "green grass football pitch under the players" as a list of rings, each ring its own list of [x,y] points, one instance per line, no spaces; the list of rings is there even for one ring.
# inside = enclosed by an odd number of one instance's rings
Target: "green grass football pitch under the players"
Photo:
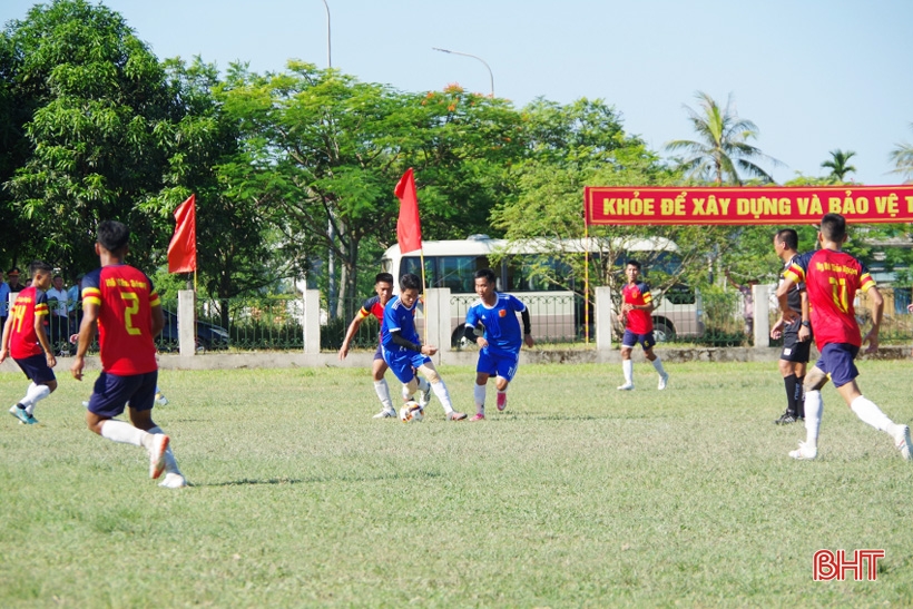
[[[860,367],[911,422],[910,363]],[[87,431],[91,385],[59,371],[39,425],[0,420],[0,607],[913,606],[913,463],[885,434],[828,386],[795,462],[775,363],[667,369],[622,393],[620,366],[527,365],[505,413],[490,386],[485,422],[435,400],[410,425],[371,419],[362,370],[165,371],[183,490]],[[473,371],[442,374],[472,412]],[[24,385],[0,374],[3,403]],[[816,582],[818,549],[886,556]]]

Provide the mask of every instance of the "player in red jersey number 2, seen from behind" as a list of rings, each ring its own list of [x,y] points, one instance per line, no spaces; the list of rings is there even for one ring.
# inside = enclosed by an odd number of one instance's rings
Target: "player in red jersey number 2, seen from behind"
[[[114,442],[143,446],[149,453],[149,477],[171,489],[186,487],[169,438],[153,422],[158,364],[154,338],[165,325],[161,303],[153,282],[124,263],[130,230],[119,222],[98,225],[96,254],[101,268],[82,278],[82,323],[70,372],[82,380],[86,352],[98,332],[101,374],[95,383],[86,423]],[[129,404],[130,422],[114,418]]]

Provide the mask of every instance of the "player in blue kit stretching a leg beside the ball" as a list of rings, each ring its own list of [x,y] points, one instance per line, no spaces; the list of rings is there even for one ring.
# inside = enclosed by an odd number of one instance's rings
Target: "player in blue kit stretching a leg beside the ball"
[[[444,406],[450,421],[462,421],[465,413],[453,410],[450,393],[443,379],[438,374],[429,355],[438,353],[434,345],[423,345],[415,331],[415,307],[419,305],[419,289],[422,281],[412,273],[400,277],[400,295],[393,297],[384,307],[384,321],[381,325],[381,346],[386,365],[403,384],[403,400],[412,400],[416,390],[421,390],[419,404],[424,409],[431,399],[431,392]],[[415,372],[425,379],[419,379]]]

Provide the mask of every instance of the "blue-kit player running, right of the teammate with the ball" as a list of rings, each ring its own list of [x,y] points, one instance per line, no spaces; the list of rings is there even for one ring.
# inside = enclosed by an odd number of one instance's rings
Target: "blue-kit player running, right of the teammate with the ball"
[[[494,272],[481,268],[475,272],[475,294],[479,299],[467,312],[465,336],[479,345],[479,363],[475,365],[475,416],[470,421],[482,421],[485,418],[485,387],[488,380],[494,375],[498,389],[495,405],[498,410],[508,407],[508,385],[517,374],[520,363],[520,347],[531,347],[534,343],[530,330],[529,310],[517,297],[499,294],[494,291]],[[517,314],[523,318],[523,332]],[[477,335],[478,326],[484,327],[481,336]]]

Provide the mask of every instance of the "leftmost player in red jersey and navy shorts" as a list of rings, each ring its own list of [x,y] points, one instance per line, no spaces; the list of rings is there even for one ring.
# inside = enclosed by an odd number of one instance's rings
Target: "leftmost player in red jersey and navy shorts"
[[[10,409],[10,414],[21,423],[33,425],[36,404],[57,389],[57,377],[51,370],[57,365],[45,323],[48,320],[48,297],[45,292],[51,285],[53,269],[47,263],[36,261],[29,267],[31,286],[22,288],[16,297],[3,327],[0,363],[12,358],[31,380],[26,396]]]

